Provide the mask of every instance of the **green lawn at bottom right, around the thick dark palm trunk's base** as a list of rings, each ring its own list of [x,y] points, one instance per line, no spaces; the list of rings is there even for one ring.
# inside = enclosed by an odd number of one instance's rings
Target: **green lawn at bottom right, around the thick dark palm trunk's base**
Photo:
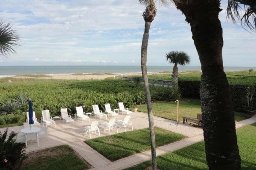
[[[241,170],[256,169],[256,123],[237,130],[237,139],[241,156]],[[151,161],[143,162],[126,170],[145,170]],[[204,142],[157,157],[160,170],[208,170]]]

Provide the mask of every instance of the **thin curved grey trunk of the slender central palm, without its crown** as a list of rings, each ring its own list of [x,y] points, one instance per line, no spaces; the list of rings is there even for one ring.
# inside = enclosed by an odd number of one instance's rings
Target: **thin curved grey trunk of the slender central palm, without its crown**
[[[151,138],[151,156],[152,156],[152,168],[153,170],[157,169],[157,154],[156,154],[156,140],[154,135],[154,119],[151,106],[151,96],[149,91],[148,84],[148,75],[147,75],[147,51],[148,51],[148,37],[149,29],[151,22],[145,22],[145,31],[143,34],[142,45],[141,45],[141,71],[144,81],[144,91],[146,95],[147,109],[148,109],[148,122]]]

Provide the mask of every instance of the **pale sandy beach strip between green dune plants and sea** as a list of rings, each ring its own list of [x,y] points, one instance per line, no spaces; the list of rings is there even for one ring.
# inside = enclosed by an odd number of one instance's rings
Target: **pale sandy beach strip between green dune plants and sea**
[[[171,74],[171,73],[148,73],[151,74]],[[42,77],[38,76],[15,76],[13,78],[17,79],[77,79],[77,80],[84,80],[84,79],[106,79],[106,78],[113,78],[113,79],[120,79],[122,77],[131,77],[131,76],[142,76],[141,73],[113,73],[113,74],[45,74]]]

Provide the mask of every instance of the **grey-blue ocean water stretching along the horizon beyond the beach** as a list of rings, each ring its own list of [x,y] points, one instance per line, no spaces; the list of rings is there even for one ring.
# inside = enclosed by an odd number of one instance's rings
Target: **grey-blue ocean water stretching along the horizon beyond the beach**
[[[173,66],[147,66],[148,72],[172,71]],[[256,70],[256,67],[224,67],[225,71]],[[201,71],[200,66],[178,66],[179,71]],[[140,66],[0,66],[0,77],[24,74],[140,73]]]

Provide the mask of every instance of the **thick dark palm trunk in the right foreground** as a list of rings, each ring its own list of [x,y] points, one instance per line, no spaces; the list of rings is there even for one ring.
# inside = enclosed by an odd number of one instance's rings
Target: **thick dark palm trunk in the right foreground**
[[[240,170],[233,104],[222,62],[220,0],[175,0],[190,23],[201,62],[200,97],[209,170]]]

